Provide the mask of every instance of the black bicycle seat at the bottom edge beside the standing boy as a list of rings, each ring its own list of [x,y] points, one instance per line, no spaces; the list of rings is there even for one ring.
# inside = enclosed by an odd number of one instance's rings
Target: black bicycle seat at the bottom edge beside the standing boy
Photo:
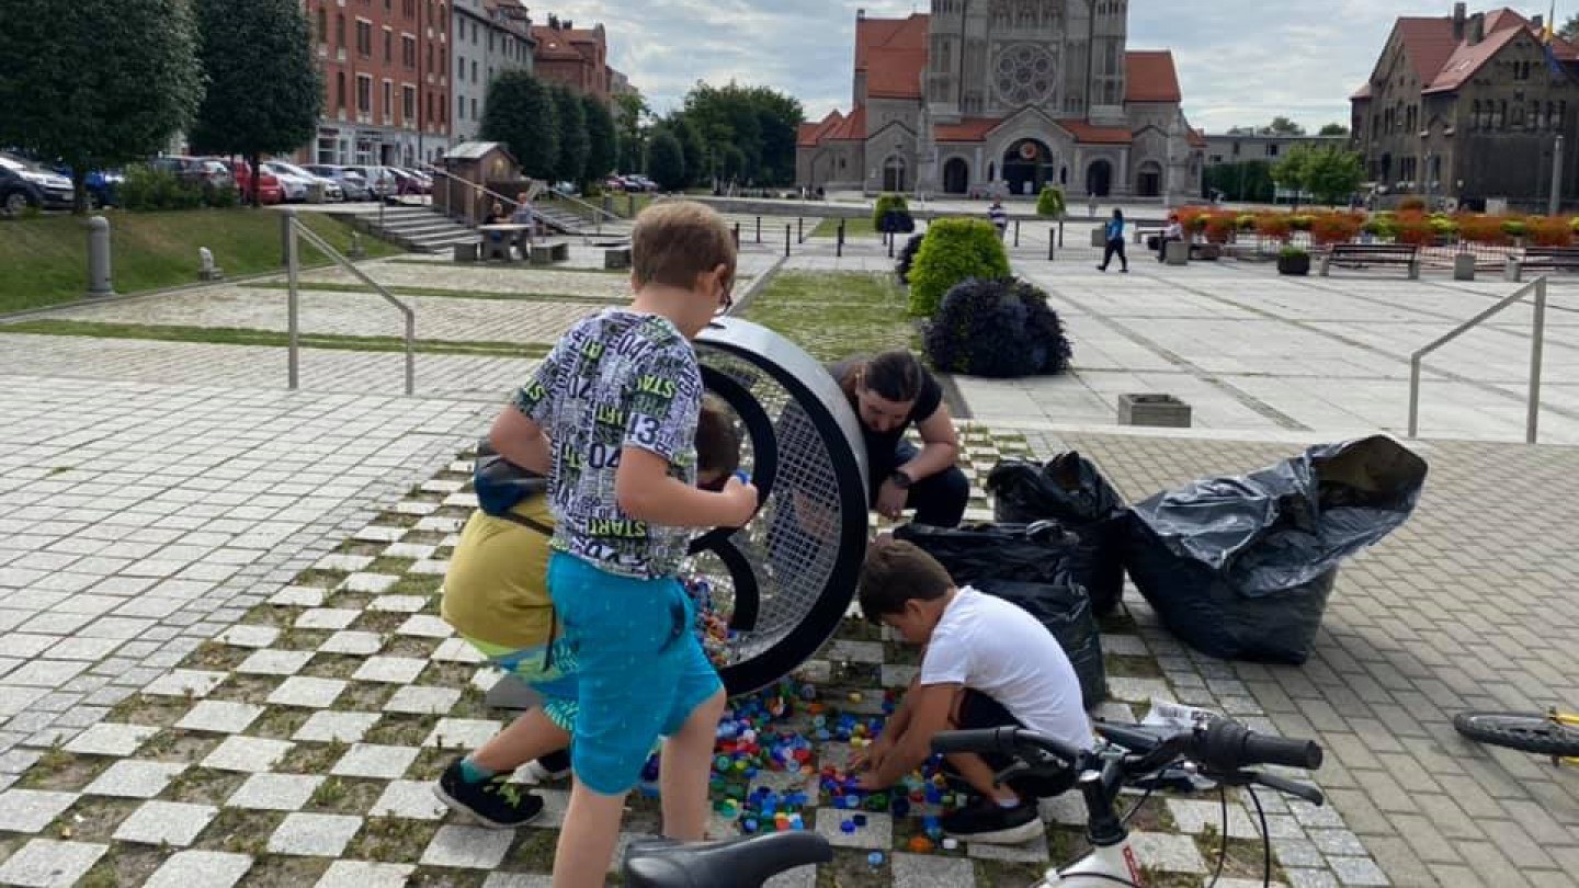
[[[671,839],[633,842],[625,853],[627,888],[742,888],[813,863],[834,860],[816,833],[767,833],[685,845]]]

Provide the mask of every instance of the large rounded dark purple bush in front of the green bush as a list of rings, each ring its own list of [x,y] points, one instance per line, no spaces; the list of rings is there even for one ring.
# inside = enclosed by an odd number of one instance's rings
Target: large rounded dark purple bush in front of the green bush
[[[1000,379],[1063,373],[1072,356],[1047,294],[1009,277],[954,286],[927,325],[925,346],[944,373]]]

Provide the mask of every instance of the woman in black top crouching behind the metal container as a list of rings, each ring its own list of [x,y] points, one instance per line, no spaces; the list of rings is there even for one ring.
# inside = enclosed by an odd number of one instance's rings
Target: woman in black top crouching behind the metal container
[[[971,485],[955,466],[960,439],[943,403],[943,386],[906,351],[829,367],[861,420],[872,507],[887,518],[916,510],[916,523],[957,528]],[[905,441],[916,425],[921,447]]]

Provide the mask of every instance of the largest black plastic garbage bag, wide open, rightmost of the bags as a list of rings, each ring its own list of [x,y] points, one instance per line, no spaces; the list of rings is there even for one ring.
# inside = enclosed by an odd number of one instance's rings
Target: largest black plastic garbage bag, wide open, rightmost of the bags
[[[1131,509],[1124,564],[1164,626],[1225,659],[1303,664],[1337,564],[1415,510],[1427,466],[1391,438],[1311,447]]]

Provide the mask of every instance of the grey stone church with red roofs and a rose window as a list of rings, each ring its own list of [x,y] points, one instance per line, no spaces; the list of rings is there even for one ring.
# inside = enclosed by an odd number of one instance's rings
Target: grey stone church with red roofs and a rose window
[[[856,13],[848,114],[802,123],[797,183],[925,194],[1181,204],[1202,193],[1205,137],[1168,51],[1127,49],[1129,0],[932,0],[905,19]]]

